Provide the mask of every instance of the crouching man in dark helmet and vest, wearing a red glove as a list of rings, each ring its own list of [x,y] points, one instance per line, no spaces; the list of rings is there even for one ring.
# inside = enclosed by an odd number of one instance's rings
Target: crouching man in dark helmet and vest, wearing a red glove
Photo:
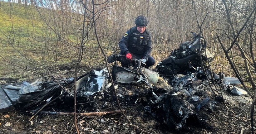
[[[145,67],[155,64],[155,59],[150,56],[152,42],[150,32],[146,30],[148,20],[145,16],[135,18],[136,26],[130,28],[119,42],[121,55],[126,55],[127,59],[138,59],[145,63]],[[123,67],[129,67],[128,64],[122,64]]]

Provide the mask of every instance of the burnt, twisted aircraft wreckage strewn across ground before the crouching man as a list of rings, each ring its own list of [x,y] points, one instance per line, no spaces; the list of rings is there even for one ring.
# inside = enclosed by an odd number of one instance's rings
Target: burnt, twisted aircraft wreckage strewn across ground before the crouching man
[[[200,108],[207,107],[214,111],[216,104],[223,101],[223,98],[216,96],[210,101],[210,95],[207,93],[198,95],[210,84],[204,79],[222,83],[227,92],[235,95],[247,94],[243,89],[230,85],[241,84],[238,79],[224,77],[224,74],[213,73],[207,68],[204,62],[213,60],[214,55],[207,49],[202,37],[195,33],[192,35],[192,41],[181,43],[180,48],[173,50],[168,58],[155,66],[154,70],[143,67],[139,60],[126,59],[124,55],[113,54],[107,58],[108,63],[117,60],[131,66],[130,69],[113,65],[112,77],[116,83],[119,83],[118,96],[126,101],[143,103],[145,112],[175,130],[186,128],[186,120],[190,117],[197,120],[196,112],[199,112]],[[203,60],[205,73],[201,68],[200,57]],[[112,86],[108,78],[106,69],[93,70],[80,76],[76,82],[77,98],[104,93]],[[145,89],[144,86],[144,88],[124,89],[122,86],[140,83],[145,83],[148,88]],[[1,85],[0,112],[12,110],[36,112],[60,95],[62,96],[59,97],[59,101],[72,98],[72,92],[64,91],[63,87],[66,89],[74,87],[74,78],[46,82],[38,79],[31,84],[23,81],[19,84]]]

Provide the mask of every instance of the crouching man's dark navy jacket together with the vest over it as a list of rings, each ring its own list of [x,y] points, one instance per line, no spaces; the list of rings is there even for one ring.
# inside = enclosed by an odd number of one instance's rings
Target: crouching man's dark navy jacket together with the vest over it
[[[146,29],[140,33],[135,26],[126,31],[118,45],[124,54],[131,53],[148,60],[152,50],[151,34]]]

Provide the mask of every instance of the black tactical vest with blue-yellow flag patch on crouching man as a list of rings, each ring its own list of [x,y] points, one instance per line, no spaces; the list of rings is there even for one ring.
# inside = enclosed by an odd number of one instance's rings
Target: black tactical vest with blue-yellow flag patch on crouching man
[[[136,27],[131,30],[131,36],[129,39],[128,49],[131,53],[144,55],[145,47],[148,44],[149,34],[147,32],[140,33]]]

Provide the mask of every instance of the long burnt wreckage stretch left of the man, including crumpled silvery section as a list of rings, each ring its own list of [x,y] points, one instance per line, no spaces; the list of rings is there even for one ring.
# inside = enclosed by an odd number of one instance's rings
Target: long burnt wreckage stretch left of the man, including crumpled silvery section
[[[106,89],[108,73],[105,69],[101,71],[93,70],[88,74],[82,75],[78,78],[76,84],[76,93],[78,97],[86,97],[94,93],[101,92]],[[35,82],[29,84],[23,81],[19,85],[1,86],[0,92],[0,112],[13,110],[30,110],[32,112],[40,109],[44,104],[56,98],[60,94],[70,96],[64,92],[63,88],[72,88],[74,85],[74,78],[64,78],[57,81],[42,82],[42,79],[37,79]],[[6,99],[8,98],[8,99]],[[65,97],[64,97],[65,98]]]

